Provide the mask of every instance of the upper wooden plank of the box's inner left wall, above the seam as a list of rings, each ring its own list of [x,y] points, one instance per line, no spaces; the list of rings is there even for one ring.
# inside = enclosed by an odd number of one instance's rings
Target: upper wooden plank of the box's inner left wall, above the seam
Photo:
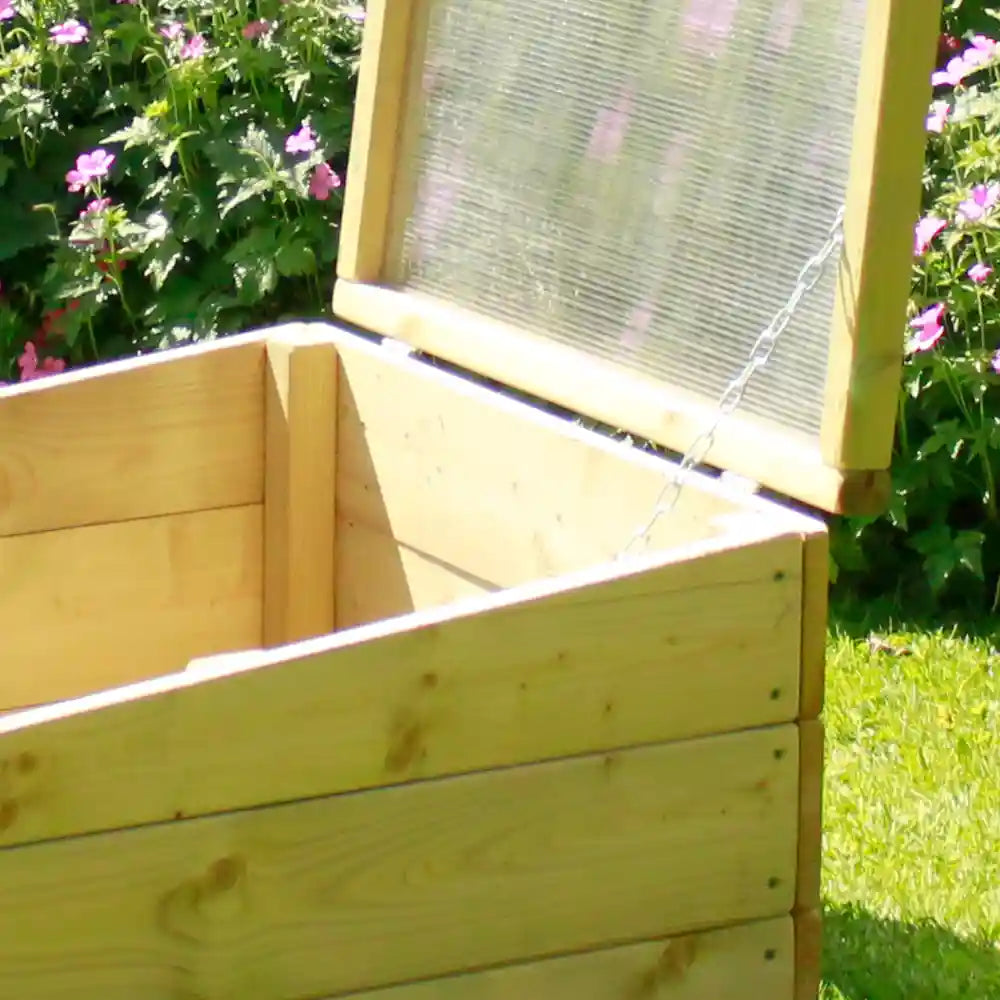
[[[240,337],[0,395],[0,536],[263,499],[263,357]]]

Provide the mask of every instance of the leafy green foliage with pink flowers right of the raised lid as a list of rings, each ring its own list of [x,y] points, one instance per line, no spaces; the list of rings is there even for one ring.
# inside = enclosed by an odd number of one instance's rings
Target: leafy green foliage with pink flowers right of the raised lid
[[[945,16],[972,7],[954,3]],[[928,115],[894,496],[885,515],[843,519],[832,532],[838,587],[895,592],[911,605],[982,609],[1000,601],[998,64],[1000,47],[982,36],[942,52]]]

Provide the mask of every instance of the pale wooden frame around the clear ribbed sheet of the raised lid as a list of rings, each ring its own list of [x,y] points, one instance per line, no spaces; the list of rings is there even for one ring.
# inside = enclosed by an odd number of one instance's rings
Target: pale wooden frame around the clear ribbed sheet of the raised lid
[[[333,308],[339,317],[683,451],[710,402],[409,289],[391,272],[433,0],[369,0]],[[869,0],[819,442],[737,412],[707,461],[828,511],[888,498],[940,0]]]

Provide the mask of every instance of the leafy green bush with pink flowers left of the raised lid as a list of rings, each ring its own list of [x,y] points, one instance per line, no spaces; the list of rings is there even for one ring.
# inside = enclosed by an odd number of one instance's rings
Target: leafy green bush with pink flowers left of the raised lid
[[[0,0],[0,381],[322,310],[363,19]]]

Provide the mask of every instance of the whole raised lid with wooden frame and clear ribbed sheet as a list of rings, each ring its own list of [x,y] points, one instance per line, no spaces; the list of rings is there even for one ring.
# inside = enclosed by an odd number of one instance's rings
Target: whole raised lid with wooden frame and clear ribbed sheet
[[[940,0],[369,0],[334,310],[707,461],[884,499]]]

